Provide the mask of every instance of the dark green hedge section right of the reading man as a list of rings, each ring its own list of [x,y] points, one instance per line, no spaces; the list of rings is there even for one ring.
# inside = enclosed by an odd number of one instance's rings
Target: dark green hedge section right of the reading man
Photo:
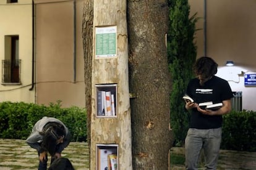
[[[222,149],[255,152],[256,112],[233,110],[224,115],[222,134]]]

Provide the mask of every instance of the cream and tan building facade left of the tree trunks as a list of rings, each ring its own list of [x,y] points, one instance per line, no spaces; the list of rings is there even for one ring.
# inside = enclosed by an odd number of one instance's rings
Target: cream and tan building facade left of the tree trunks
[[[84,107],[83,1],[1,0],[0,100]]]

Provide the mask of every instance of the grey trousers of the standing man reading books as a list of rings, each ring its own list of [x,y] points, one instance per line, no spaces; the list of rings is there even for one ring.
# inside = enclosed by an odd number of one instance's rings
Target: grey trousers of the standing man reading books
[[[192,129],[185,140],[186,169],[197,169],[201,149],[205,155],[205,169],[216,169],[221,144],[221,127]]]

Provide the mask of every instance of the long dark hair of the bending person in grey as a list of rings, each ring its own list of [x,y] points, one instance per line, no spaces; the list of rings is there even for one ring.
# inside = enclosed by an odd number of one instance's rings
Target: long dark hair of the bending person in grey
[[[43,127],[43,131],[40,134],[43,135],[41,148],[43,151],[49,152],[49,154],[53,156],[55,153],[57,140],[60,137],[65,136],[66,133],[62,124],[49,122]]]

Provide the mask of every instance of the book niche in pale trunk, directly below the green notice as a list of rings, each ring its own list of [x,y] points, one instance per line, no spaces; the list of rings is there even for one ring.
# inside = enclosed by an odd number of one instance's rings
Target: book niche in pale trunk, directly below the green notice
[[[96,84],[96,117],[117,117],[117,84]]]

